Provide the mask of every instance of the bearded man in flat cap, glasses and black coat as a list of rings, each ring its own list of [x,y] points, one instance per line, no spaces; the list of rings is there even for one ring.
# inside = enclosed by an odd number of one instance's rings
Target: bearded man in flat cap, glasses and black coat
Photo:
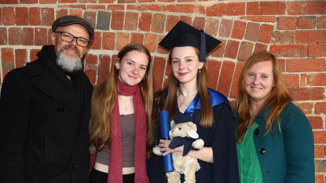
[[[88,183],[93,86],[81,58],[94,35],[78,16],[52,25],[52,44],[10,71],[0,96],[0,182]]]

